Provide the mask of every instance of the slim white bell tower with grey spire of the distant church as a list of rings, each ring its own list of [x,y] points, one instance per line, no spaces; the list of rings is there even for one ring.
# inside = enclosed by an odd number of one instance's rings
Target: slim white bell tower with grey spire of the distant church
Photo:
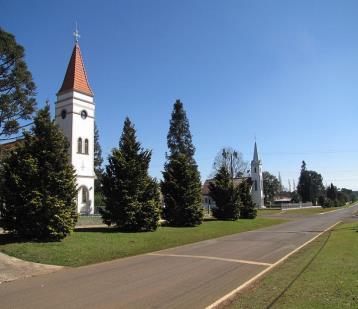
[[[252,180],[252,189],[251,189],[252,201],[256,204],[257,208],[265,208],[264,193],[263,193],[263,179],[262,179],[262,163],[259,160],[256,142],[254,148],[254,157],[253,160],[251,161],[251,180]]]

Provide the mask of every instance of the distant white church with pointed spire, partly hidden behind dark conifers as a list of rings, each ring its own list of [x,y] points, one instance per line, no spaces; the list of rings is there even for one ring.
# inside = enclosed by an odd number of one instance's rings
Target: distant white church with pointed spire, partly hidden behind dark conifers
[[[245,178],[235,178],[234,184],[239,185]],[[254,156],[251,161],[251,171],[250,178],[252,180],[252,188],[251,188],[251,196],[252,201],[256,204],[257,208],[265,208],[264,204],[264,192],[263,192],[263,178],[262,178],[262,163],[259,159],[257,145],[255,142],[254,146]],[[206,211],[210,211],[212,207],[215,207],[215,202],[209,195],[209,184],[213,181],[213,179],[207,179],[202,187],[202,199],[203,199],[203,207]]]

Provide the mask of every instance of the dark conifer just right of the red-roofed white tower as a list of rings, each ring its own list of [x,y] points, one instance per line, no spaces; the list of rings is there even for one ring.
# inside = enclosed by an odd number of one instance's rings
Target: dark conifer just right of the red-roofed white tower
[[[143,150],[136,140],[129,118],[124,122],[119,147],[112,150],[103,174],[105,223],[124,231],[153,231],[160,213],[159,189],[148,175],[151,151]]]

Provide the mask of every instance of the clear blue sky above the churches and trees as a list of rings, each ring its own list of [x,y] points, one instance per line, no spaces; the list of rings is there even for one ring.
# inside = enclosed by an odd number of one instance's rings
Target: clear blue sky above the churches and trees
[[[357,1],[5,1],[0,25],[25,47],[39,106],[52,106],[75,21],[105,157],[126,116],[160,178],[181,99],[205,179],[223,146],[297,183],[358,189]]]

